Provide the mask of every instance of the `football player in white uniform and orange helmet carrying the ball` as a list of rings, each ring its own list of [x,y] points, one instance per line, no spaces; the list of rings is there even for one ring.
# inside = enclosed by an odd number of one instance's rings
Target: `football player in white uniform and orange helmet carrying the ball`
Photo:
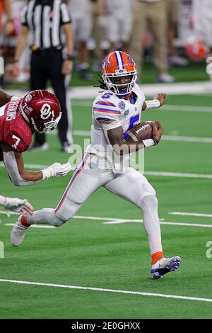
[[[20,245],[26,230],[33,223],[48,223],[59,227],[76,214],[81,205],[100,186],[134,203],[143,211],[143,225],[148,235],[151,251],[152,278],[160,278],[165,273],[176,271],[181,259],[163,257],[158,200],[155,190],[139,171],[131,167],[123,168],[129,152],[143,147],[151,147],[160,141],[162,128],[153,126],[153,137],[143,142],[126,142],[127,132],[139,123],[141,111],[158,108],[165,103],[165,94],[159,94],[153,101],[145,101],[145,96],[136,84],[134,60],[124,52],[115,51],[102,62],[104,90],[93,102],[91,145],[86,148],[81,162],[76,167],[57,208],[37,210],[33,215],[20,215],[11,232],[11,243]],[[110,149],[108,149],[110,147]],[[119,163],[112,156],[120,157]]]

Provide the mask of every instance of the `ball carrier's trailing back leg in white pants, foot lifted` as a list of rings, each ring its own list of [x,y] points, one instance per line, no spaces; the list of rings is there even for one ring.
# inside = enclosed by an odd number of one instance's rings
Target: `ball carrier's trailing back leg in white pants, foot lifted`
[[[57,208],[44,208],[35,211],[33,215],[20,215],[11,232],[11,243],[14,246],[23,242],[26,230],[34,223],[59,227],[70,220],[88,196],[102,186],[102,171],[90,169],[90,160],[93,161],[90,154],[83,155]]]

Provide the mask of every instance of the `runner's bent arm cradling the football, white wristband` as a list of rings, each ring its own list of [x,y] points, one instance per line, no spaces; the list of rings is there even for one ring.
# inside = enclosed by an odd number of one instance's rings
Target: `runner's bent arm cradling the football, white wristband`
[[[153,128],[152,135],[153,137],[155,137],[156,142],[159,142],[163,133],[162,126],[160,125],[159,122],[158,122],[158,129],[154,124],[151,124],[151,126]],[[150,147],[151,145],[149,145],[149,140],[152,140],[148,139],[139,142],[135,141],[126,142],[124,141],[122,126],[119,126],[118,128],[112,128],[111,130],[107,130],[106,137],[107,140],[110,142],[110,145],[112,145],[114,152],[117,155],[125,155],[132,152],[138,152],[139,150],[145,147]],[[152,145],[155,145],[155,142],[153,142]]]

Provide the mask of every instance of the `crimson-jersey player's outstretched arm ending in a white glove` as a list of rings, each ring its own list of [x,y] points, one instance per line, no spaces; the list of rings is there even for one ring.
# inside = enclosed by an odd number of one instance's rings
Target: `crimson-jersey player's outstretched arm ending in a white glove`
[[[38,181],[65,176],[71,171],[71,164],[54,163],[46,169],[40,171],[26,171],[24,168],[23,156],[19,152],[14,152],[5,144],[1,144],[3,150],[4,164],[8,175],[16,186],[28,186],[36,184]]]

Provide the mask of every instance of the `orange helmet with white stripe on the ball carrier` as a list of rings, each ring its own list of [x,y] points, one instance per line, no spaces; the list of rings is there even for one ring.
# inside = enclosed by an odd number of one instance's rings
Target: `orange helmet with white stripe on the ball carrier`
[[[111,52],[102,62],[102,79],[114,94],[129,94],[137,79],[134,60],[122,51]]]

